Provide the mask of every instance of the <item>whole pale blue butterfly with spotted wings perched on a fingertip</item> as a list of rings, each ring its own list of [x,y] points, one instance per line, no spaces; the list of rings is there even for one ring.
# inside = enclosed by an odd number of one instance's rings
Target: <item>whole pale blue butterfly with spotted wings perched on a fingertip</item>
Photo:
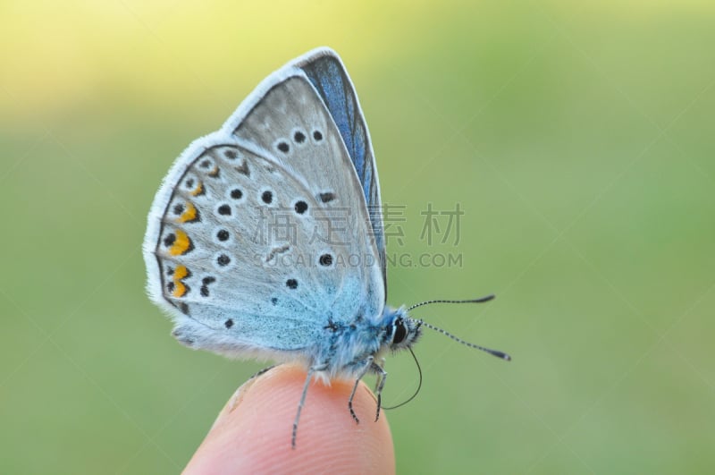
[[[147,292],[190,348],[299,361],[311,379],[377,375],[422,327],[385,304],[374,152],[340,56],[321,47],[262,81],[164,178],[147,220]],[[488,300],[481,299],[477,301]],[[415,306],[413,306],[414,308]],[[509,360],[506,353],[468,344]]]

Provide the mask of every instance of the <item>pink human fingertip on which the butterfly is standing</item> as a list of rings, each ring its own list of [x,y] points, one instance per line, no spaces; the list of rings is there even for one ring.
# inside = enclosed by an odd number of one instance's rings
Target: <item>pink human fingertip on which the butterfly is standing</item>
[[[390,427],[360,382],[349,415],[351,381],[313,382],[300,415],[295,450],[292,423],[306,370],[282,365],[250,379],[231,397],[184,473],[395,473]]]

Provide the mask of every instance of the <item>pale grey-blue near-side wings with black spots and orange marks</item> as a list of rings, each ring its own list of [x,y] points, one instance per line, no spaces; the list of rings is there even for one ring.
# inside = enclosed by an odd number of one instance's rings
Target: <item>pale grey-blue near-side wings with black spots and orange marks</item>
[[[276,360],[382,314],[362,187],[304,72],[269,76],[172,166],[149,214],[153,300],[182,343]]]

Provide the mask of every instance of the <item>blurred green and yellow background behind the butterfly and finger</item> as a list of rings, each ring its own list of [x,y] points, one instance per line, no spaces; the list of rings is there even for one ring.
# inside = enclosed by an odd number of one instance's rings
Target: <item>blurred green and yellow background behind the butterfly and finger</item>
[[[463,259],[392,267],[388,300],[496,293],[416,316],[514,356],[425,335],[422,392],[388,414],[398,471],[711,471],[713,21],[705,1],[3,2],[0,472],[180,471],[262,367],[173,341],[140,244],[174,157],[319,45],[406,207],[389,251]],[[428,203],[464,210],[457,245],[420,239]],[[399,403],[414,362],[387,369]]]

